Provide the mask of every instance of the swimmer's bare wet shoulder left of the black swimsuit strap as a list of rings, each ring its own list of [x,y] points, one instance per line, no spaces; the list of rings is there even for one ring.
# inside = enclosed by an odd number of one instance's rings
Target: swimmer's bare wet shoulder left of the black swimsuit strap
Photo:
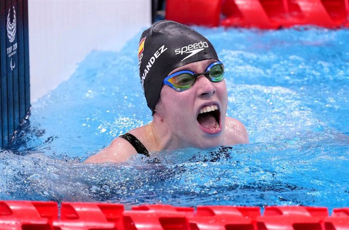
[[[84,163],[124,162],[136,153],[135,148],[131,144],[117,137],[108,147],[91,156]]]

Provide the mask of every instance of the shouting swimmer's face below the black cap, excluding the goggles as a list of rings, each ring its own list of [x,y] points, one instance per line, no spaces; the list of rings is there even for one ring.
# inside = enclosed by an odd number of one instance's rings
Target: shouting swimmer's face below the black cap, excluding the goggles
[[[201,73],[215,61],[210,59],[190,63],[170,74],[181,70]],[[173,139],[183,143],[182,147],[207,149],[223,144],[227,101],[225,80],[212,82],[201,75],[185,91],[178,92],[163,85],[155,111],[170,129]]]

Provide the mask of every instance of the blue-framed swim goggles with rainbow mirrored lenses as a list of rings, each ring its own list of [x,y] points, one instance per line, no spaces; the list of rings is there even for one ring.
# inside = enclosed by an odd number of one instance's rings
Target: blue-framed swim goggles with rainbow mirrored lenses
[[[189,70],[182,70],[176,73],[172,73],[167,76],[163,83],[167,84],[177,91],[184,91],[189,89],[201,75],[205,75],[210,81],[218,82],[224,78],[224,65],[222,62],[213,62],[207,66],[206,71],[202,73],[194,73]]]

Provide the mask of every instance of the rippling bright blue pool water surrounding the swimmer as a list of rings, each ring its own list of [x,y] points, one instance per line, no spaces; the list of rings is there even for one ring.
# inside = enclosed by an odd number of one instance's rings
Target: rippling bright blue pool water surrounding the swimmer
[[[348,207],[349,30],[197,30],[225,63],[227,113],[246,125],[249,145],[82,164],[152,119],[137,34],[118,53],[92,51],[33,103],[0,152],[0,199]]]

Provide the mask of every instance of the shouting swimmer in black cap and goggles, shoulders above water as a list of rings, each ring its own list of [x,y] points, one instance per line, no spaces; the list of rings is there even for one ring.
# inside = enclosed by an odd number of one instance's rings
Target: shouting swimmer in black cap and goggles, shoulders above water
[[[138,61],[153,120],[120,135],[86,163],[248,143],[245,126],[226,117],[224,63],[203,35],[177,22],[156,22],[142,33]]]

